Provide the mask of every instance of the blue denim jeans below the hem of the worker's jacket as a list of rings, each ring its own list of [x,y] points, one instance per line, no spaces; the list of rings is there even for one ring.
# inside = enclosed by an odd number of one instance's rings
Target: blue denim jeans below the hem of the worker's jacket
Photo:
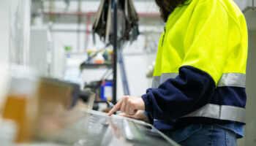
[[[182,131],[163,133],[183,146],[236,146],[236,134],[217,125],[197,124]]]

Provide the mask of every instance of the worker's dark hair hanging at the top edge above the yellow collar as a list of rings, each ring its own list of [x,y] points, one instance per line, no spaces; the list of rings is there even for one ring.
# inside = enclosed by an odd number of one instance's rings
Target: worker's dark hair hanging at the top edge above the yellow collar
[[[155,0],[159,7],[161,18],[166,22],[170,13],[179,5],[187,0]]]

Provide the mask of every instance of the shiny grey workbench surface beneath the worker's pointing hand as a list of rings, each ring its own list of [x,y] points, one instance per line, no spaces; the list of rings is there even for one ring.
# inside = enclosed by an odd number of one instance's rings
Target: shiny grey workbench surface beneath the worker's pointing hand
[[[80,109],[78,115],[81,118],[75,123],[58,133],[47,134],[37,145],[178,145],[154,126],[141,120],[108,116],[104,112],[86,109]]]

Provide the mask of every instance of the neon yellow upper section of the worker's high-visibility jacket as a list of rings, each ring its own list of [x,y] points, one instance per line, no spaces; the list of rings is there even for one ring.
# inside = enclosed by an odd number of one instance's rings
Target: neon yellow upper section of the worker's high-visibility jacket
[[[247,29],[232,0],[192,0],[169,16],[159,40],[154,76],[194,66],[219,81],[223,73],[246,73]]]

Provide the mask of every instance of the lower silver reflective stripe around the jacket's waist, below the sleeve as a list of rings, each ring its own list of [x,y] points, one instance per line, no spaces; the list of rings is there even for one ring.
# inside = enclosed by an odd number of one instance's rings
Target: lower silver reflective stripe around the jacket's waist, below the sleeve
[[[194,112],[191,112],[185,117],[206,117],[206,118],[215,118],[219,120],[233,120],[241,123],[245,123],[245,109],[241,107],[233,107],[217,104],[206,104]]]

